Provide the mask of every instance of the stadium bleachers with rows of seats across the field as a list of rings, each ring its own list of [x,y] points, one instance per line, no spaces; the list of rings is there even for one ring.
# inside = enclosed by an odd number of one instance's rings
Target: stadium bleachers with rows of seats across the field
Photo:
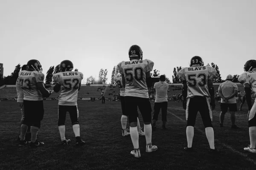
[[[243,85],[236,83],[238,90],[241,92],[241,96],[244,95]],[[218,86],[220,83],[214,83],[215,92],[218,91]],[[53,90],[53,88],[48,88],[48,90]],[[95,97],[96,99],[101,98],[102,90],[105,91],[106,99],[114,98],[115,94],[119,94],[119,88],[116,85],[81,85],[81,89],[78,92],[78,98],[91,98]],[[182,84],[169,84],[168,98],[172,98],[173,95],[178,96],[182,92]],[[49,99],[58,98],[59,93],[53,92]],[[17,91],[15,85],[4,85],[0,87],[0,99],[15,99],[17,98]]]

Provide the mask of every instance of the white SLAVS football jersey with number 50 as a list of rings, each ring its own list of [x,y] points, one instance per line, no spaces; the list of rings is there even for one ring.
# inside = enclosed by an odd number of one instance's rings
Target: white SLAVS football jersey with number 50
[[[122,61],[117,67],[125,75],[125,96],[148,97],[146,73],[152,71],[154,62],[149,59]]]

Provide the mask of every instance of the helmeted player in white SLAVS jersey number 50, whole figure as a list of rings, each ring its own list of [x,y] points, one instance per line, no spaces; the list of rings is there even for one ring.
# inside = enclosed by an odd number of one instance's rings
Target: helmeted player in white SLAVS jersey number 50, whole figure
[[[122,61],[117,67],[122,74],[122,84],[125,87],[125,110],[129,113],[130,136],[134,146],[131,154],[140,158],[139,133],[137,129],[137,107],[140,109],[144,121],[144,133],[146,138],[146,152],[157,150],[152,145],[151,135],[151,104],[148,91],[152,87],[150,71],[154,62],[143,59],[143,52],[138,45],[132,45],[128,51],[130,61]]]

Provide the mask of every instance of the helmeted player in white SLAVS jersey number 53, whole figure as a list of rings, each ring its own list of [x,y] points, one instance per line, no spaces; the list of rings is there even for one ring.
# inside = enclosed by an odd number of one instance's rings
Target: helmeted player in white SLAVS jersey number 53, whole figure
[[[198,111],[201,114],[205,133],[210,145],[210,152],[216,152],[214,146],[214,131],[212,128],[211,102],[214,102],[214,88],[212,79],[216,75],[215,68],[204,66],[201,57],[195,56],[190,60],[190,67],[181,69],[178,72],[179,79],[183,82],[183,98],[186,99],[186,136],[188,145],[185,150],[192,150],[194,137],[195,119]]]

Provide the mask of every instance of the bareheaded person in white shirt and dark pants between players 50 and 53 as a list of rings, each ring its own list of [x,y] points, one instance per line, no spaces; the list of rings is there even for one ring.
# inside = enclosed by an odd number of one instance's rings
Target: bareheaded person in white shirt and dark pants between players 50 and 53
[[[164,75],[160,76],[160,82],[156,82],[154,84],[154,90],[156,91],[156,99],[154,103],[154,113],[153,113],[153,123],[152,123],[152,130],[155,130],[157,128],[156,122],[158,120],[158,115],[160,112],[160,109],[162,110],[162,129],[166,129],[166,121],[167,121],[167,106],[168,106],[168,100],[167,100],[167,92],[169,85],[165,82],[166,78]]]

